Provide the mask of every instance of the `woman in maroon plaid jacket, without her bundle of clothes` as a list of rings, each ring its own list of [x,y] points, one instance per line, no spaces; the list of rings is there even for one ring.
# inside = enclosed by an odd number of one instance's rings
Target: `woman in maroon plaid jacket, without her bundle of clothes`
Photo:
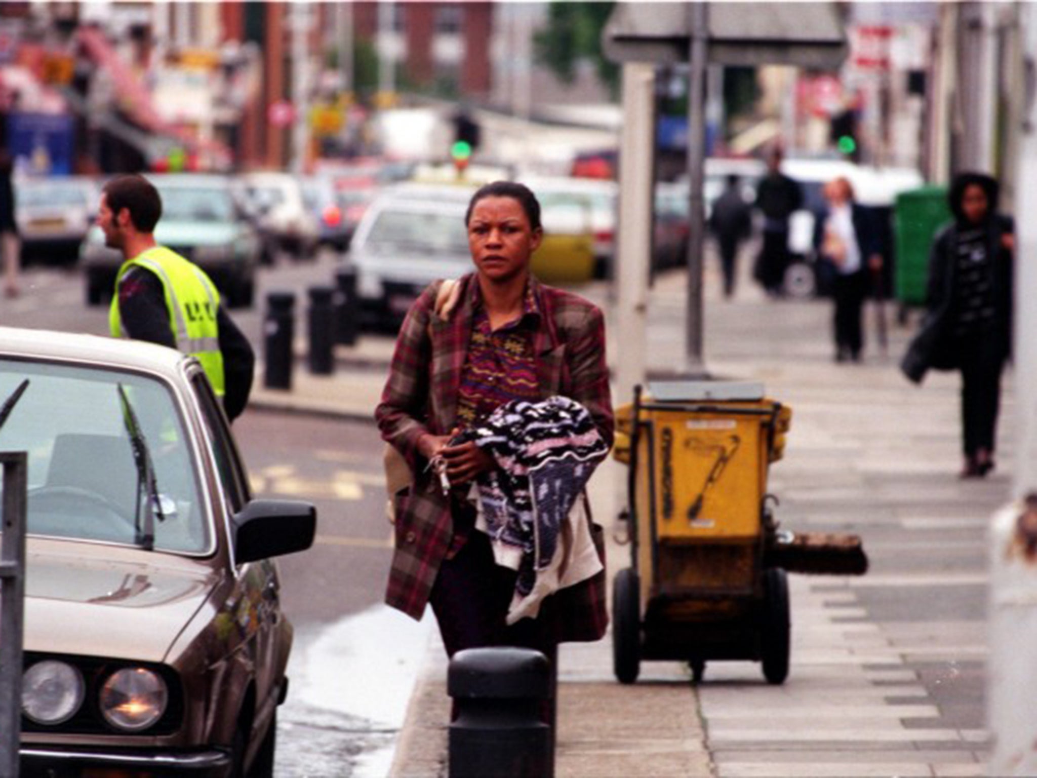
[[[450,656],[520,645],[551,659],[559,642],[604,635],[604,572],[548,596],[537,618],[507,626],[514,572],[495,563],[466,500],[473,479],[495,464],[474,444],[450,440],[502,400],[560,394],[584,406],[611,445],[605,323],[587,300],[530,274],[542,230],[539,204],[526,187],[483,187],[472,199],[467,225],[476,271],[457,281],[456,304],[445,318],[437,312],[440,283],[411,307],[375,411],[383,438],[412,473],[410,487],[394,498],[395,553],[386,601],[414,618],[430,603]],[[455,487],[447,494],[427,467],[438,454]]]

